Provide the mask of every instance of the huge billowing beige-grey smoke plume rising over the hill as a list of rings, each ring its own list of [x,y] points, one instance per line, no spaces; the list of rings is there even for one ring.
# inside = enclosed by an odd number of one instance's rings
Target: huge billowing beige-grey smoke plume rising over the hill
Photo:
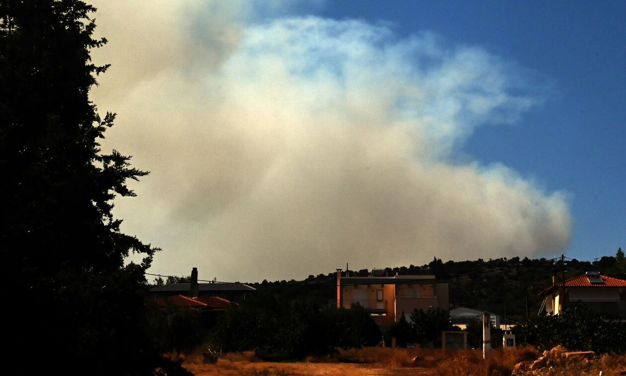
[[[113,67],[93,100],[119,114],[105,150],[152,172],[116,200],[163,248],[151,271],[301,279],[567,247],[567,194],[453,162],[475,127],[541,102],[523,69],[362,21],[148,4],[100,4]]]

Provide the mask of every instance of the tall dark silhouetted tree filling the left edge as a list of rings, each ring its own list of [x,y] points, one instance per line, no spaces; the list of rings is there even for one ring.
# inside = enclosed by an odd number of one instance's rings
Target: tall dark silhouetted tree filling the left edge
[[[94,11],[78,0],[0,0],[0,255],[21,312],[12,358],[28,357],[31,372],[162,364],[143,328],[156,249],[123,234],[111,213],[116,195],[135,195],[126,181],[147,172],[101,153],[115,114],[100,117],[88,96],[107,67],[90,59],[106,42],[92,37]],[[125,265],[130,252],[143,261]]]

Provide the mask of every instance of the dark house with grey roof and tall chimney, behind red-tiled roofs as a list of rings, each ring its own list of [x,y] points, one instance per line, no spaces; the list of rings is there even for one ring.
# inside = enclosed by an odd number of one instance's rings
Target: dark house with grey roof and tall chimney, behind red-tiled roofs
[[[192,269],[191,282],[188,284],[167,284],[150,289],[153,300],[182,295],[191,298],[219,297],[230,302],[244,302],[246,295],[256,291],[254,287],[239,282],[198,283],[198,269]],[[178,300],[182,302],[182,300]]]

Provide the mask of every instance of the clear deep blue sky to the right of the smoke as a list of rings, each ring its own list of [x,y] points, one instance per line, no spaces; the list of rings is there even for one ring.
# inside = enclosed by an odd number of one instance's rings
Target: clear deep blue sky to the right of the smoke
[[[548,190],[572,194],[567,255],[614,255],[626,236],[626,3],[620,1],[329,2],[319,14],[391,21],[483,46],[553,83],[513,126],[479,127],[463,147]]]

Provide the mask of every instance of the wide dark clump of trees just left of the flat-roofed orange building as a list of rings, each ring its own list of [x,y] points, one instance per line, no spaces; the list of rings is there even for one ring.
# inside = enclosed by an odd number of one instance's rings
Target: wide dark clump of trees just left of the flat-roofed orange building
[[[260,356],[275,359],[324,355],[334,347],[361,348],[380,340],[380,330],[360,305],[337,309],[312,300],[267,296],[229,307],[212,332],[218,349],[257,349]]]

